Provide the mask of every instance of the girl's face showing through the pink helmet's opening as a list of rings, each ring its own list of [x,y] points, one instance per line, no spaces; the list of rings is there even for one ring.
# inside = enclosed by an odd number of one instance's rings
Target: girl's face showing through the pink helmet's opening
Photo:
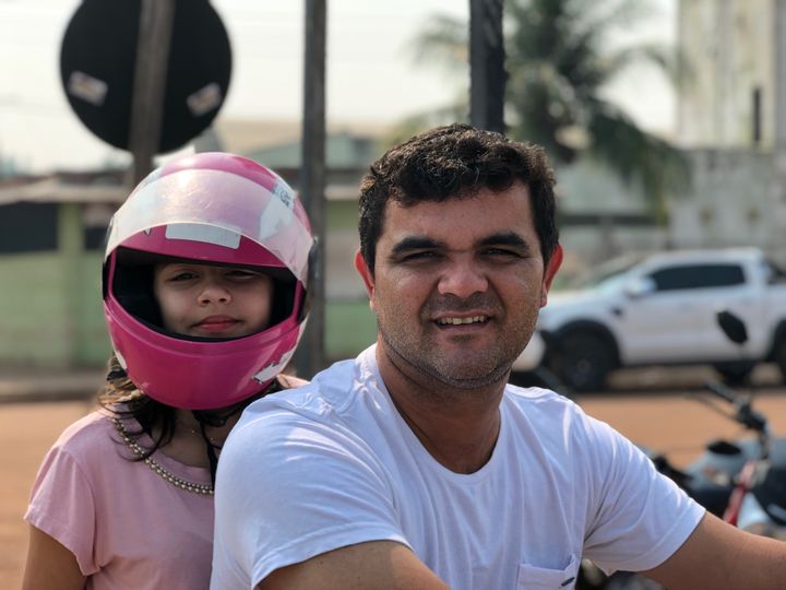
[[[245,337],[264,330],[271,319],[273,280],[252,269],[162,262],[153,291],[164,328],[182,335]]]

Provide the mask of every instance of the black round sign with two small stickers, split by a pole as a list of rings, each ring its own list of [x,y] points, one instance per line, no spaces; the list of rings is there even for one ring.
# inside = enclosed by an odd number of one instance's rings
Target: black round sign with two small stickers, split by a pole
[[[129,149],[142,0],[83,0],[66,30],[60,76],[76,116],[100,139]],[[231,50],[207,0],[177,0],[156,153],[176,150],[218,114]]]

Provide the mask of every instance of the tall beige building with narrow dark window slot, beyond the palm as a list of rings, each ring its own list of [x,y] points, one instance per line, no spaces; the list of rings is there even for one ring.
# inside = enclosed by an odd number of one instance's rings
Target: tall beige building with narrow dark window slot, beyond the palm
[[[680,0],[677,138],[686,148],[772,149],[778,0]]]

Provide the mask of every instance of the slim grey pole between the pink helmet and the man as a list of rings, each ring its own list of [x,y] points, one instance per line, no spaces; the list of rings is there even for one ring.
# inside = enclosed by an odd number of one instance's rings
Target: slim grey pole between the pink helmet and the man
[[[311,315],[295,355],[298,375],[311,378],[324,368],[324,252],[325,252],[325,40],[326,0],[306,0],[306,56],[303,80],[300,199],[319,238],[311,291]]]

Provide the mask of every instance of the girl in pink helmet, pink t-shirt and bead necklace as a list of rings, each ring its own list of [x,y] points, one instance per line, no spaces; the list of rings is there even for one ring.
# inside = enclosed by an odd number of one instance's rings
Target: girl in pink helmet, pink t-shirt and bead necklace
[[[217,455],[246,405],[293,385],[313,244],[291,189],[246,158],[136,187],[108,233],[108,385],[36,477],[24,589],[209,587]]]

